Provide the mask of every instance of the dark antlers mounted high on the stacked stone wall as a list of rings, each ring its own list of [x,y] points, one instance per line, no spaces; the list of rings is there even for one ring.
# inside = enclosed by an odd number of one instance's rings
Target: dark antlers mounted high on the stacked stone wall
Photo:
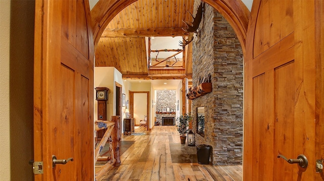
[[[193,35],[195,32],[197,32],[197,29],[199,27],[201,19],[203,18],[204,9],[205,9],[205,3],[201,2],[197,9],[195,17],[193,17],[193,15],[188,11],[188,13],[193,18],[193,22],[188,22],[188,21],[182,20],[182,22],[184,22],[187,26],[187,29],[182,28],[182,30],[185,32],[188,32],[189,37],[188,37],[188,39],[183,39],[185,41],[184,43],[179,41],[180,46],[186,46],[193,40]]]

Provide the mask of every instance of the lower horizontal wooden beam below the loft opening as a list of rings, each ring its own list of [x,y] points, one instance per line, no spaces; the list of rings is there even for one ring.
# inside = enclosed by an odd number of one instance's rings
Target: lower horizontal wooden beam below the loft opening
[[[132,80],[162,80],[162,79],[183,79],[188,76],[185,74],[155,74],[155,75],[123,75],[123,79]]]

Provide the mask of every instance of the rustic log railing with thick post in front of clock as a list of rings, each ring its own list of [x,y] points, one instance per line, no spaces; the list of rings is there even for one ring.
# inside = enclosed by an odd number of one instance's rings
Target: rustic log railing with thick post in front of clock
[[[95,163],[97,161],[107,161],[106,164],[100,166],[96,171],[96,180],[101,178],[105,172],[111,169],[113,166],[120,165],[120,116],[111,116],[110,121],[96,121],[95,130],[103,130],[107,128],[106,133],[101,139],[100,143],[95,149]],[[100,157],[105,144],[109,141],[109,151],[111,156]],[[97,166],[96,166],[97,167]]]

